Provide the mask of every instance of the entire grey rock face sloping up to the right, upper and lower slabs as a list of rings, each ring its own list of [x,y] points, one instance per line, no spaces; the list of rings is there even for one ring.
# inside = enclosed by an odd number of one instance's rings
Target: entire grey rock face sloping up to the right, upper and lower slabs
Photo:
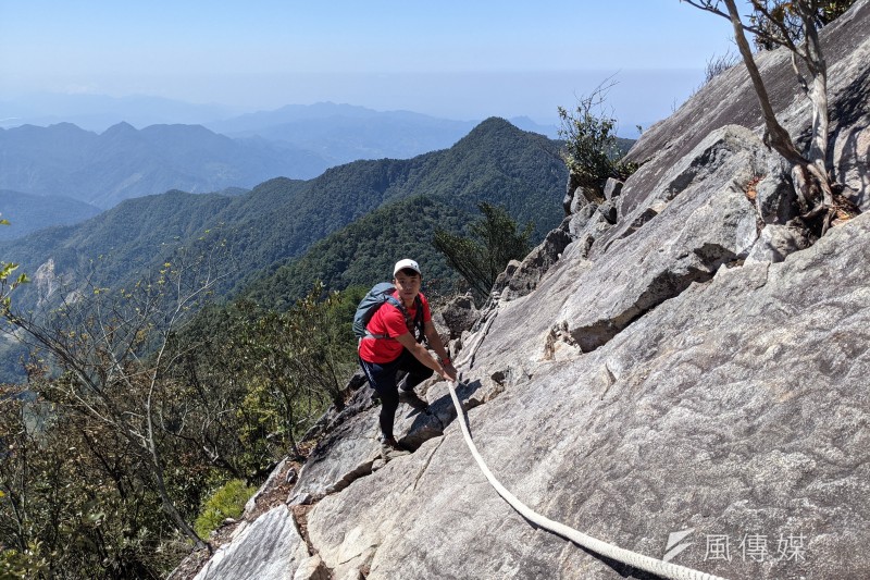
[[[825,34],[834,165],[866,206],[870,2]],[[788,63],[761,60],[803,135],[805,106],[776,84]],[[619,195],[569,207],[551,245],[511,264],[463,336],[460,395],[490,469],[549,518],[726,578],[863,578],[870,215],[820,239],[795,227],[742,75],[648,129]],[[333,578],[651,578],[520,517],[446,385],[421,393],[433,412],[400,407],[396,425],[414,453],[378,464],[377,409],[361,408],[300,473],[290,503],[312,506],[309,554]]]

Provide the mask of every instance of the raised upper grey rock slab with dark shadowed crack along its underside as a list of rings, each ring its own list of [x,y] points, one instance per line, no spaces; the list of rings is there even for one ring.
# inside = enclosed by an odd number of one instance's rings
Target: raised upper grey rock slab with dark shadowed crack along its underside
[[[595,268],[560,313],[582,350],[598,348],[644,312],[749,254],[759,227],[746,193],[767,161],[753,132],[722,127],[655,188],[645,201],[658,208],[650,221],[637,231],[614,229],[609,239],[596,243],[591,254]],[[646,209],[638,207],[626,224]]]

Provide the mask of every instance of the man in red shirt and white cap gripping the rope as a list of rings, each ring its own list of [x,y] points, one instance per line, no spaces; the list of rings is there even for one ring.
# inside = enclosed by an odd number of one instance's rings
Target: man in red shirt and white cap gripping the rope
[[[428,301],[420,292],[422,282],[420,266],[414,260],[396,262],[395,289],[386,288],[386,301],[365,324],[365,335],[359,342],[360,366],[381,398],[380,441],[384,460],[409,453],[393,436],[399,403],[428,412],[428,405],[414,393],[414,386],[432,377],[433,371],[444,380],[456,381],[456,369],[432,322]],[[438,359],[418,342],[424,336]]]

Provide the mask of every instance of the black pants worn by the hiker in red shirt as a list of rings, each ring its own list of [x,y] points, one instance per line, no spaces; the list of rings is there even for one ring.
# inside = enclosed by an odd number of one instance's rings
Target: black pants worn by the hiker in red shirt
[[[399,388],[411,391],[432,377],[434,371],[420,362],[407,348],[402,348],[399,358],[390,362],[377,363],[360,359],[360,367],[381,398],[381,432],[391,437],[396,409],[399,408]]]

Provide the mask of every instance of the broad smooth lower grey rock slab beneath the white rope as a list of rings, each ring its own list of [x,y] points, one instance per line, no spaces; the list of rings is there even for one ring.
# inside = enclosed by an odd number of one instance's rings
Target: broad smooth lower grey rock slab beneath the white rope
[[[676,562],[720,576],[862,577],[868,255],[860,218],[782,263],[723,268],[471,410],[477,445],[533,508],[622,547],[661,557],[671,532],[694,529]],[[455,424],[322,501],[309,533],[328,566],[364,565],[370,579],[624,572],[520,518]],[[731,560],[712,559],[725,539]]]

